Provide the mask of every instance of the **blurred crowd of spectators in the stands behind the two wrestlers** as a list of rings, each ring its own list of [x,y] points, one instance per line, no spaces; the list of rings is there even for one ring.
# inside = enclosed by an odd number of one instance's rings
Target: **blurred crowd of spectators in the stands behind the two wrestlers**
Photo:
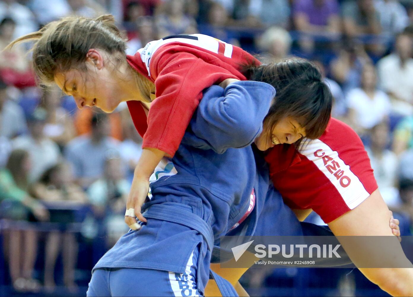
[[[312,60],[333,93],[333,116],[360,135],[382,196],[411,235],[413,0],[1,0],[0,50],[59,17],[104,13],[125,30],[128,54],[171,34],[202,33],[263,63]],[[126,105],[77,110],[59,89],[38,88],[28,47],[0,52],[0,286],[53,292],[58,283],[76,292],[85,257],[90,273],[128,230],[123,212],[142,139]],[[345,294],[351,282],[343,280]]]

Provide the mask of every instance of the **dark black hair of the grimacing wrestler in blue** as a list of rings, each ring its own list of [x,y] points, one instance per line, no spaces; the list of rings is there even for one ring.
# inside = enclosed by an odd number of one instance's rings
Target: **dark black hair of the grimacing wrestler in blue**
[[[285,117],[294,117],[306,131],[306,138],[317,139],[331,117],[332,94],[320,70],[312,62],[291,58],[269,65],[250,66],[247,79],[263,81],[275,88],[275,98],[264,125],[268,129]],[[269,134],[271,137],[271,134]],[[294,145],[298,148],[301,139]]]

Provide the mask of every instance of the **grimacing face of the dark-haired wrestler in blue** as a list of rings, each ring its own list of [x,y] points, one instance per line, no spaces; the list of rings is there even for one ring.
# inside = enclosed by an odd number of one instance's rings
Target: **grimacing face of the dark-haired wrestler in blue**
[[[273,127],[272,131],[263,128],[263,131],[254,142],[260,151],[266,151],[278,144],[293,144],[305,136],[305,129],[301,127],[297,120],[292,117],[285,117]]]

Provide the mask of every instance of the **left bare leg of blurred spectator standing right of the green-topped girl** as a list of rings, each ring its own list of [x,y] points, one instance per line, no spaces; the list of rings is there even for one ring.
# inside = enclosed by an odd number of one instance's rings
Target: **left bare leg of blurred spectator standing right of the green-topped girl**
[[[54,290],[55,284],[55,265],[59,255],[60,234],[52,231],[47,235],[45,247],[45,287],[46,290]]]

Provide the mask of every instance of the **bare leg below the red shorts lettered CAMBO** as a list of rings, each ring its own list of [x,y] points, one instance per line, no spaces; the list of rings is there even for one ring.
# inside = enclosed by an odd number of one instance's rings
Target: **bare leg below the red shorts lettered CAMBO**
[[[393,235],[388,222],[389,209],[376,190],[359,206],[328,224],[336,236],[391,236]],[[363,228],[360,228],[360,225]],[[382,290],[393,296],[413,295],[413,265],[404,255],[403,249],[395,238],[391,250],[377,249],[356,240],[338,238],[350,259],[356,264],[360,263],[361,256],[367,256],[372,261],[392,259],[394,263],[409,268],[359,268],[371,282],[377,284]],[[407,265],[406,265],[407,263]]]

